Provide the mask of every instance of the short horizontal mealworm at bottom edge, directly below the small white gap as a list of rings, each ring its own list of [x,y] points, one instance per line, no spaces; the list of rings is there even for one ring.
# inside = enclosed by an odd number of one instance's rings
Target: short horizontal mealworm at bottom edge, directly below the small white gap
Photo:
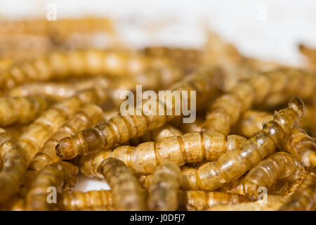
[[[112,207],[111,191],[74,191],[62,193],[60,200],[61,210],[83,210],[96,207]]]

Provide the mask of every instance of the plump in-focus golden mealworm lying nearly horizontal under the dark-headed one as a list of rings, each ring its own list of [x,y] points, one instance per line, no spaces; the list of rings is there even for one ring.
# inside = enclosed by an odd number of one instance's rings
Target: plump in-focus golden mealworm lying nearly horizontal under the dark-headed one
[[[103,160],[117,158],[133,172],[148,174],[166,161],[184,165],[186,162],[217,160],[220,155],[236,150],[245,140],[242,136],[225,136],[218,132],[191,132],[162,141],[147,141],[136,147],[119,146],[87,155],[79,159],[79,168],[86,176],[98,176],[98,165]]]

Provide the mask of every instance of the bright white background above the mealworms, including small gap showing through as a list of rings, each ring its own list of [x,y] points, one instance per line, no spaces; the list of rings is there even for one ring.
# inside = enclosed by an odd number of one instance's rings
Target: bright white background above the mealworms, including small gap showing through
[[[212,30],[245,56],[301,65],[298,43],[316,47],[316,1],[312,0],[11,0],[0,1],[0,29],[6,20],[46,18],[111,18],[126,46],[202,48]],[[106,40],[99,40],[106,46]],[[77,190],[107,188],[103,181],[81,179]]]

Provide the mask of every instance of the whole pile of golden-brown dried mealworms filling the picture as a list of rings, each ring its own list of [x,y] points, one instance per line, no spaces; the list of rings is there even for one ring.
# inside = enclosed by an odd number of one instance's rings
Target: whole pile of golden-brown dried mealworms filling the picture
[[[5,27],[1,210],[316,209],[316,49],[298,46],[307,63],[295,68],[243,56],[213,32],[201,49],[136,49],[107,18]],[[96,34],[112,43],[98,48]],[[175,105],[122,114],[136,85],[178,91],[180,103],[195,91],[196,120]],[[110,190],[74,191],[84,176]]]

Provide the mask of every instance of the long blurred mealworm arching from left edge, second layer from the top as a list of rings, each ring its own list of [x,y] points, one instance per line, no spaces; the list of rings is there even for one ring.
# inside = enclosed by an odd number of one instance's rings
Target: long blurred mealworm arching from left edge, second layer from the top
[[[0,88],[11,89],[25,82],[44,82],[69,76],[133,77],[150,73],[151,70],[158,72],[163,86],[183,77],[180,68],[171,65],[167,60],[148,59],[132,51],[55,51],[46,57],[23,62],[0,72]]]

